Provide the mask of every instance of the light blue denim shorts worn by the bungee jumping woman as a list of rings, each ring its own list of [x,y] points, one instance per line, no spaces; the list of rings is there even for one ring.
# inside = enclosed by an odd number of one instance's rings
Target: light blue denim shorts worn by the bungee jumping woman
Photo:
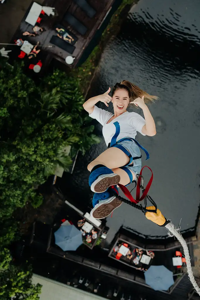
[[[133,158],[141,156],[140,149],[134,141],[122,141],[118,143],[118,145],[124,146],[124,148],[126,148],[128,152],[130,152]],[[133,160],[133,166],[129,166],[127,168],[131,170],[136,176],[136,174],[139,174],[142,169],[142,159],[138,158],[136,160]]]

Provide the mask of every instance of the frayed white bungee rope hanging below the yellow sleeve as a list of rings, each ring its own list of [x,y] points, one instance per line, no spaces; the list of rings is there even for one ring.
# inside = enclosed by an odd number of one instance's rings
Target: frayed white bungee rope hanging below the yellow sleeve
[[[180,242],[181,246],[183,247],[184,255],[185,255],[185,259],[186,259],[188,276],[190,278],[192,285],[196,289],[196,292],[200,295],[200,288],[199,288],[198,284],[196,283],[196,280],[193,275],[192,266],[191,266],[191,262],[190,262],[190,254],[189,254],[189,250],[187,247],[187,243],[184,240],[184,238],[182,237],[181,233],[179,232],[180,229],[179,228],[176,229],[174,224],[172,224],[171,222],[169,224],[167,224],[165,227],[167,230],[169,230],[169,232],[172,233],[172,234],[168,233],[168,235],[175,236],[178,239],[178,241]]]

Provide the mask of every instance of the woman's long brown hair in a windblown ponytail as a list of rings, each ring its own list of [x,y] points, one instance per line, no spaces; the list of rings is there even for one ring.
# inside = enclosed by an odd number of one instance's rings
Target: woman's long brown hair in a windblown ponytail
[[[128,80],[122,80],[120,83],[117,82],[115,84],[115,86],[112,88],[112,97],[113,97],[115,91],[117,91],[118,89],[121,89],[121,88],[124,88],[128,92],[130,102],[134,101],[138,97],[141,98],[142,96],[145,96],[144,101],[146,104],[149,104],[151,102],[155,102],[155,100],[158,100],[157,96],[149,95],[147,92],[141,90],[141,88],[139,88],[137,85],[134,85],[133,83],[131,83]],[[130,105],[134,105],[134,104],[130,104]]]

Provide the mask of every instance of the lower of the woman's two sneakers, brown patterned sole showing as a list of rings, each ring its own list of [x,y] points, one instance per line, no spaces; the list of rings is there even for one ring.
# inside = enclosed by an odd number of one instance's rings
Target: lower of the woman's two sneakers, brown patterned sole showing
[[[122,204],[122,201],[112,196],[105,200],[103,203],[97,204],[90,212],[91,217],[94,219],[103,219],[109,216],[116,208]]]

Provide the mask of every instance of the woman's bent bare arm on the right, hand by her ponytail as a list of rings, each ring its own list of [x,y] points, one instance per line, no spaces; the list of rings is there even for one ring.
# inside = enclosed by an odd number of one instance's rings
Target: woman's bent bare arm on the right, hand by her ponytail
[[[142,98],[137,98],[130,103],[133,103],[136,106],[142,108],[146,122],[146,124],[142,127],[142,133],[153,137],[156,134],[156,125],[148,109],[148,106],[144,102],[144,96],[142,96]]]

